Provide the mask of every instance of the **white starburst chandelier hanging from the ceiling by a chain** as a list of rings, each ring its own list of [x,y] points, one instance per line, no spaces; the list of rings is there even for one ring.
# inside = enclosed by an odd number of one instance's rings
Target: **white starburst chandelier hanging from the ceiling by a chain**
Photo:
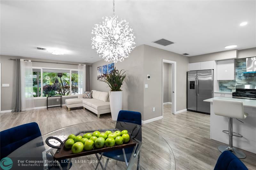
[[[104,19],[102,17],[102,19]],[[125,19],[118,21],[113,0],[113,17],[105,17],[102,24],[95,24],[92,30],[92,48],[107,62],[122,62],[135,48],[135,36]]]

